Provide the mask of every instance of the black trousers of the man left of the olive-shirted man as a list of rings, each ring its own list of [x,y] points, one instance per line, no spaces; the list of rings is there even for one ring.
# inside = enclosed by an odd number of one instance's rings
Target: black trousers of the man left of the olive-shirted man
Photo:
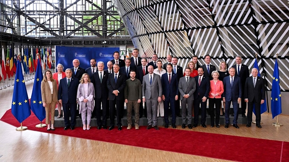
[[[114,127],[114,110],[116,108],[116,122],[117,126],[121,126],[121,107],[120,105],[123,104],[122,100],[109,100],[109,118],[110,118],[110,126]]]

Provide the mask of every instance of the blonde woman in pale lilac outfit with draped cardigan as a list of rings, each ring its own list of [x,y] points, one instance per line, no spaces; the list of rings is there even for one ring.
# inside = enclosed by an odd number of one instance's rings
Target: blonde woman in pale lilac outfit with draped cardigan
[[[79,104],[79,114],[83,124],[83,130],[90,129],[91,112],[94,109],[94,86],[90,82],[89,75],[84,73],[80,79],[80,84],[77,89],[77,103]],[[87,116],[86,116],[87,114]],[[87,118],[87,125],[86,125]]]

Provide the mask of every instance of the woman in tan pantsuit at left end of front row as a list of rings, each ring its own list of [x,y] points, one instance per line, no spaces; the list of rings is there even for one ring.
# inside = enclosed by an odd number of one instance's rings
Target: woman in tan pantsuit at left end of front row
[[[50,70],[45,71],[45,75],[41,82],[41,97],[43,107],[45,107],[46,118],[45,123],[47,124],[47,131],[54,131],[54,112],[56,103],[58,103],[58,89],[56,80],[52,78]],[[50,115],[51,115],[51,127],[50,127]]]

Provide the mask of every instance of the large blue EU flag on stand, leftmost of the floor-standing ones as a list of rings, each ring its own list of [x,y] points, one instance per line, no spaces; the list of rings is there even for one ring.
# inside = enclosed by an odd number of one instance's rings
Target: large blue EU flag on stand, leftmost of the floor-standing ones
[[[19,60],[17,64],[20,65]],[[11,109],[12,114],[15,116],[19,123],[22,123],[31,115],[27,89],[25,86],[25,80],[22,74],[21,66],[17,66],[16,68]]]

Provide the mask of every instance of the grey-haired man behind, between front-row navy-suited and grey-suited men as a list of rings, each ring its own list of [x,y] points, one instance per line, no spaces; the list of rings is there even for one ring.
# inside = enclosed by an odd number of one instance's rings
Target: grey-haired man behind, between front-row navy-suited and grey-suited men
[[[173,73],[177,74],[177,80],[179,81],[179,79],[181,77],[183,77],[183,68],[181,66],[178,65],[178,58],[177,57],[173,57],[172,58],[172,64],[173,64]],[[175,101],[175,113],[176,116],[181,117],[180,114],[180,99],[178,98]]]

